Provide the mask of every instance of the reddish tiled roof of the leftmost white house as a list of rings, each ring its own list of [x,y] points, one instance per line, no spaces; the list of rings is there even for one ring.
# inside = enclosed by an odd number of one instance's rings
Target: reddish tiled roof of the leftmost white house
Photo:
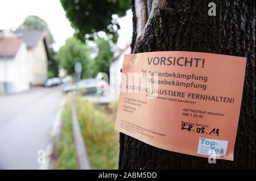
[[[0,57],[13,58],[19,50],[23,40],[19,38],[0,39]]]

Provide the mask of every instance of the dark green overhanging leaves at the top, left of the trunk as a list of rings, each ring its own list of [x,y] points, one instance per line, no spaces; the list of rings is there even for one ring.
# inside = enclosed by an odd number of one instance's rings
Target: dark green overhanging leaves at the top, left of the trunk
[[[105,31],[113,36],[113,41],[117,41],[117,30],[119,24],[112,19],[113,14],[124,16],[129,9],[127,0],[60,0],[66,16],[71,22],[71,26],[77,30],[76,36],[84,41],[85,35],[90,38],[93,33]]]

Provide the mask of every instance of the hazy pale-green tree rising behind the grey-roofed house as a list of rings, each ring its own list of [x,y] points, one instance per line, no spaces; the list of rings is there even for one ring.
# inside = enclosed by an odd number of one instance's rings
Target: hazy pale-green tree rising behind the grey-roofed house
[[[59,64],[54,59],[53,54],[55,54],[52,44],[55,43],[55,40],[53,39],[52,33],[49,30],[48,24],[38,16],[27,16],[27,18],[24,19],[24,22],[20,24],[16,30],[39,30],[39,31],[45,31],[47,33],[47,42],[49,46],[49,51],[52,54],[50,60],[48,60],[48,78],[52,77],[58,77],[59,75]]]

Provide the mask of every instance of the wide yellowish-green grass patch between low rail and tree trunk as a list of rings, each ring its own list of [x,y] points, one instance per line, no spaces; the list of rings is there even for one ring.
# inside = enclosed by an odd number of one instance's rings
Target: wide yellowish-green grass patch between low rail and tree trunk
[[[114,120],[94,104],[76,99],[76,111],[92,169],[118,169],[119,140]]]

